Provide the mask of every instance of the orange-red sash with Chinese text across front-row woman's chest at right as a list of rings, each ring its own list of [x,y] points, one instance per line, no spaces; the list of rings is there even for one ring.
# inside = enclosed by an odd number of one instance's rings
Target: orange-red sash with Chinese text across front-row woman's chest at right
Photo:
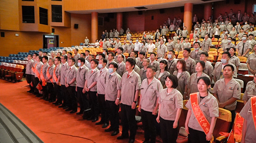
[[[207,135],[210,130],[210,123],[208,122],[207,118],[205,118],[204,113],[202,112],[202,110],[199,107],[197,94],[198,93],[190,94],[192,111],[193,111],[195,118],[198,121],[199,125],[204,130],[205,135]]]

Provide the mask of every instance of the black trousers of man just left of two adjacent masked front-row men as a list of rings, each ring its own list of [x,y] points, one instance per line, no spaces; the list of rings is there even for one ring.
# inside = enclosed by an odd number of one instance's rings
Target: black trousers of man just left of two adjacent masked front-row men
[[[99,117],[99,104],[97,99],[97,92],[96,91],[89,91],[89,104],[92,110],[92,117],[98,118]]]

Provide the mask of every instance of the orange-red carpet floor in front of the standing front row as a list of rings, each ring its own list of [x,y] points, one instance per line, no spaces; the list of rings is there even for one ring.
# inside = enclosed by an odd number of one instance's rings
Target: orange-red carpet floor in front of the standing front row
[[[36,98],[27,93],[26,81],[11,83],[0,79],[0,103],[14,113],[44,143],[127,143],[116,140],[111,132],[104,132],[101,125],[81,118],[81,115],[69,114],[64,109]],[[106,128],[107,129],[107,128]],[[120,126],[122,131],[122,126]],[[143,142],[143,134],[138,131],[136,143]]]

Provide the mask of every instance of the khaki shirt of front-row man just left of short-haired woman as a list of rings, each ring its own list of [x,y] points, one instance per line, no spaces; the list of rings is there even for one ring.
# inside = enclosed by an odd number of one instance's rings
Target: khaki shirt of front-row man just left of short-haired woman
[[[150,83],[148,83],[148,79],[144,79],[141,83],[140,91],[141,109],[153,112],[157,105],[157,98],[159,97],[159,92],[161,90],[163,90],[163,86],[156,78],[154,78]]]

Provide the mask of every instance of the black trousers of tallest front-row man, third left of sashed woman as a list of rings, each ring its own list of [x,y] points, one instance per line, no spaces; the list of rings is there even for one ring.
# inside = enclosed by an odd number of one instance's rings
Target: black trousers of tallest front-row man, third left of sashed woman
[[[121,104],[121,122],[122,122],[122,136],[127,137],[130,130],[130,140],[135,139],[136,135],[136,120],[135,120],[136,109],[131,109],[131,106]]]

